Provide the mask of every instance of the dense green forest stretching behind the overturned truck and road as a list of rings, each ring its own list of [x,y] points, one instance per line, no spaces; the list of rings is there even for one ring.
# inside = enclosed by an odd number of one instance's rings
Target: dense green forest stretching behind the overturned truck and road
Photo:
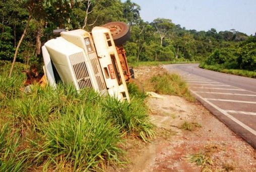
[[[41,63],[41,46],[54,29],[91,31],[112,21],[129,23],[129,62],[204,61],[226,68],[256,69],[256,38],[235,29],[187,30],[171,19],[145,22],[131,0],[1,0],[0,60]]]

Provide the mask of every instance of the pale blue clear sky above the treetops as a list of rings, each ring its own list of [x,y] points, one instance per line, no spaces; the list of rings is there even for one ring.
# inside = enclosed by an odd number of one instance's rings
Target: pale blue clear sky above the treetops
[[[124,2],[124,0],[122,0]],[[171,19],[187,30],[256,32],[256,0],[132,0],[146,22]]]

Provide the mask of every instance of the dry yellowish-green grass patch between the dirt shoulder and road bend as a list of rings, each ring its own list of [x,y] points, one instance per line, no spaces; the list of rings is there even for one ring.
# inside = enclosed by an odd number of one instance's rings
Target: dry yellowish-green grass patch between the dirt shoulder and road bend
[[[167,95],[181,96],[188,101],[195,101],[195,98],[191,96],[187,84],[183,81],[180,75],[176,73],[163,73],[153,76],[151,82],[154,85],[155,92]]]

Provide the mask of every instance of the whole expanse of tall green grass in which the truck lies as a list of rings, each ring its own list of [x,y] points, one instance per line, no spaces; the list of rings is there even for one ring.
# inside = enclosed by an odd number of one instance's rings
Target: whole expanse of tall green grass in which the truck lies
[[[35,84],[26,94],[24,74],[15,70],[9,78],[10,66],[0,74],[0,171],[105,170],[125,162],[124,137],[154,137],[146,96],[135,85],[131,103],[62,84]]]

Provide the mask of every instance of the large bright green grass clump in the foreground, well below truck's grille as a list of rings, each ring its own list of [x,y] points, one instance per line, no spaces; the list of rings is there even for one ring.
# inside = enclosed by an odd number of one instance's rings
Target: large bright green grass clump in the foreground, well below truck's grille
[[[65,166],[74,171],[98,170],[104,163],[119,162],[121,133],[99,106],[81,103],[40,128],[43,142],[36,144],[36,158],[61,171]]]

